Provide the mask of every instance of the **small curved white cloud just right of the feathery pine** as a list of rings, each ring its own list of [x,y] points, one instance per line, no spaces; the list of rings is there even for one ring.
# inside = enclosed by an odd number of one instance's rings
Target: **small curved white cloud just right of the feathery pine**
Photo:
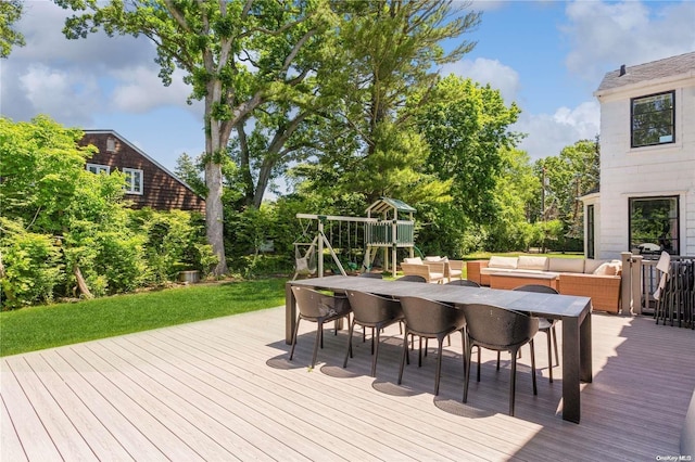
[[[505,102],[517,100],[519,92],[519,74],[509,66],[505,66],[497,60],[478,57],[475,61],[460,60],[442,68],[442,74],[456,74],[465,78],[471,78],[481,85],[490,84],[500,90]]]

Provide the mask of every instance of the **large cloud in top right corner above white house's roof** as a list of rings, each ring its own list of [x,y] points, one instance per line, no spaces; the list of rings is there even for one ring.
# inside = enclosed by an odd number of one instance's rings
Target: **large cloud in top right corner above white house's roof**
[[[568,69],[591,81],[634,65],[695,49],[695,2],[573,1],[560,27],[572,47]]]

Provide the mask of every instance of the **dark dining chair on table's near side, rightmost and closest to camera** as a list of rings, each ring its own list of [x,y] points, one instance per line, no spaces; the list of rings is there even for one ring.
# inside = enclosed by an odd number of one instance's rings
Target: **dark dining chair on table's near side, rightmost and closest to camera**
[[[464,304],[458,306],[466,317],[466,378],[464,381],[464,402],[468,401],[468,384],[470,382],[470,356],[472,348],[478,347],[478,373],[480,382],[480,348],[511,354],[511,372],[509,377],[509,415],[514,415],[516,394],[517,352],[523,345],[531,346],[531,375],[533,395],[538,395],[535,384],[535,355],[533,336],[539,331],[538,318],[523,312],[513,311],[494,305]]]

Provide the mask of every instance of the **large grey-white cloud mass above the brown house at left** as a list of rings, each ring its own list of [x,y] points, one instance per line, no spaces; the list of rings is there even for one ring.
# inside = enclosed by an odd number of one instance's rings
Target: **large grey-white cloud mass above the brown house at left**
[[[62,27],[70,14],[52,2],[26,3],[17,28],[27,44],[2,63],[4,116],[26,120],[48,114],[63,125],[83,127],[116,111],[139,114],[172,105],[202,116],[200,104],[186,104],[190,89],[182,73],[164,87],[147,38],[98,33],[67,40]]]

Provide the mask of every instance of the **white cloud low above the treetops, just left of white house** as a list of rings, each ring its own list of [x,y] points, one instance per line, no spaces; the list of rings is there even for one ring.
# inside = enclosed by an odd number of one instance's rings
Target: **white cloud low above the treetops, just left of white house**
[[[560,107],[552,115],[521,113],[511,130],[528,133],[518,147],[538,159],[556,156],[579,140],[593,140],[598,134],[599,118],[598,103],[587,101],[573,110]]]

